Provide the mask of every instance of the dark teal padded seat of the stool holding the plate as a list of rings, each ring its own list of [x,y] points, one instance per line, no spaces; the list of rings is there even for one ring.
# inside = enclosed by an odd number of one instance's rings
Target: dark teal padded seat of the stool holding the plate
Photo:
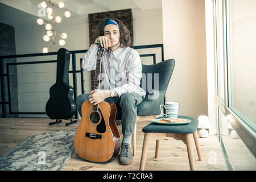
[[[166,118],[166,117],[159,117]],[[178,115],[178,118],[191,119],[191,122],[185,125],[159,125],[158,123],[151,122],[147,126],[143,127],[144,133],[181,133],[189,134],[195,133],[198,126],[198,120],[185,115]]]

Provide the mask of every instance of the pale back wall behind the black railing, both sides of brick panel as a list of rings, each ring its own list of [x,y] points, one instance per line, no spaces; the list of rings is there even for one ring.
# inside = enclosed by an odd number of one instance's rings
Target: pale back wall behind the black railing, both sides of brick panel
[[[133,27],[134,27],[134,46],[147,44],[162,44],[162,9],[139,10],[133,9]],[[88,17],[84,17],[88,19]],[[80,18],[81,19],[81,18]],[[154,22],[154,26],[152,26]],[[15,26],[16,54],[41,53],[43,47],[48,43],[43,41],[46,30],[38,24],[24,26]],[[63,23],[55,24],[57,32],[67,32],[68,38],[63,46],[69,51],[89,48],[89,24],[88,20],[73,21],[72,24]],[[57,38],[59,40],[59,38]],[[50,46],[49,52],[56,52],[60,46]],[[156,53],[156,60],[162,60],[160,48],[157,49],[138,49],[141,54]],[[83,53],[76,55],[77,65],[80,68],[80,58]],[[39,60],[56,60],[56,56],[20,58],[17,62],[39,61]],[[152,57],[142,57],[142,64],[152,64]],[[49,88],[56,81],[56,64],[34,64],[19,65],[18,73],[18,97],[19,111],[38,111],[44,112],[45,105],[49,98]],[[72,69],[72,63],[70,63]],[[85,92],[90,91],[90,72],[84,71]],[[72,84],[72,74],[69,74],[69,84]],[[77,74],[77,94],[81,94],[80,74]],[[46,117],[46,115],[20,115],[20,117]]]

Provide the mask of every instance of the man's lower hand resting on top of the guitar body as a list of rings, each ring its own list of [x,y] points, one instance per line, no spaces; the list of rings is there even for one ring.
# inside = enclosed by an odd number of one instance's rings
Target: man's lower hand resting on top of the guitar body
[[[92,90],[89,94],[89,101],[93,105],[100,104],[105,98],[110,96],[109,90]]]

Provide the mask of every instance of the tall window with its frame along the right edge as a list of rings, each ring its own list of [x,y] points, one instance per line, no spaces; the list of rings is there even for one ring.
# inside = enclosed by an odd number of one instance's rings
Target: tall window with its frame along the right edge
[[[256,169],[256,1],[214,0],[218,137],[228,169]]]

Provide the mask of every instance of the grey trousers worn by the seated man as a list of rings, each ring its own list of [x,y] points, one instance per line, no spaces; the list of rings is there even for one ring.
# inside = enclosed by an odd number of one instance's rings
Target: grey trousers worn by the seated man
[[[76,98],[76,108],[81,114],[82,103],[89,100],[89,94],[81,94]],[[137,93],[123,93],[120,98],[108,97],[104,101],[114,102],[117,109],[122,109],[122,134],[133,135],[137,119],[137,106],[143,101],[143,97]]]

